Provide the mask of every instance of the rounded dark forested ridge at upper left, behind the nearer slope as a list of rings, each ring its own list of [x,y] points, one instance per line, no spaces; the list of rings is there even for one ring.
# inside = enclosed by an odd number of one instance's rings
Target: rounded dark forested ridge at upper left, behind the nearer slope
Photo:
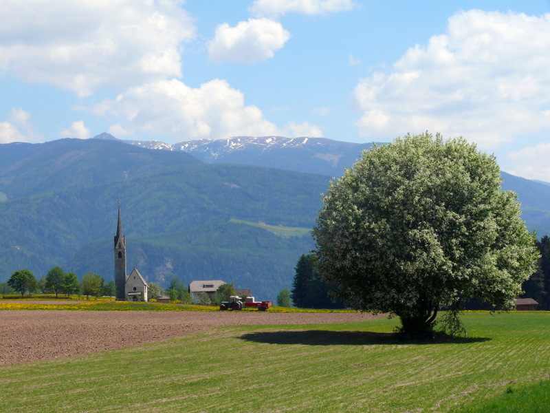
[[[116,182],[201,161],[183,152],[149,151],[115,140],[61,139],[0,145],[0,192],[8,198]]]

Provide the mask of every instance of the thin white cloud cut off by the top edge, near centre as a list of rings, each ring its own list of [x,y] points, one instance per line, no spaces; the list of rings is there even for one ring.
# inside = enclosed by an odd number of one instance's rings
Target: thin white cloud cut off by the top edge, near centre
[[[346,12],[355,7],[351,0],[255,0],[248,10],[256,17],[276,19],[287,13],[328,14]]]

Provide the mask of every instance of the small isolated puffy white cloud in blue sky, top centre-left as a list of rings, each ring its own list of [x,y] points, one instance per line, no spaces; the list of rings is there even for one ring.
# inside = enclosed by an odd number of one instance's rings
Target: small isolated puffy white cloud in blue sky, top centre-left
[[[208,53],[218,63],[257,63],[272,58],[288,39],[283,25],[270,19],[248,19],[234,28],[223,23],[208,43]]]

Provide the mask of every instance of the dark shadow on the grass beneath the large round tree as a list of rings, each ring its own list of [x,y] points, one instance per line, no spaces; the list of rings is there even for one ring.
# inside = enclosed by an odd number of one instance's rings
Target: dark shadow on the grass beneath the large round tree
[[[464,344],[490,340],[485,337],[450,337],[443,335],[433,339],[403,337],[395,332],[373,331],[265,331],[250,332],[240,337],[245,341],[270,344],[304,344],[306,346],[375,346],[380,344]]]

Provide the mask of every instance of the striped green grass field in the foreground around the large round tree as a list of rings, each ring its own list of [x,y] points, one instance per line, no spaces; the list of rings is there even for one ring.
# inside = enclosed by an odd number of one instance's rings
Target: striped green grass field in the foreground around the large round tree
[[[550,411],[550,313],[463,321],[469,337],[432,343],[399,341],[396,319],[239,326],[3,366],[0,411],[489,413],[525,394]]]

